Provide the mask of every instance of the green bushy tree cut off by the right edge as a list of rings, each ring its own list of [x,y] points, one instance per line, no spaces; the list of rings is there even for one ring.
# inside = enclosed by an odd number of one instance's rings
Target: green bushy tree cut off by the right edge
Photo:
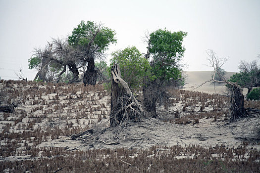
[[[260,83],[260,69],[257,60],[252,62],[241,61],[238,66],[240,72],[230,77],[230,82],[237,82],[241,87],[248,88],[247,94],[253,87],[258,87]]]

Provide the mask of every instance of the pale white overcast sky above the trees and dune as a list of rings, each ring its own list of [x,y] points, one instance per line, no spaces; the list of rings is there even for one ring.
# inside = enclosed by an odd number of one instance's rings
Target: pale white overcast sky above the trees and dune
[[[240,60],[260,54],[260,0],[0,0],[0,77],[24,77],[34,47],[52,37],[68,36],[82,20],[101,22],[116,31],[117,44],[107,53],[136,45],[148,30],[185,31],[186,71],[212,70],[207,49],[228,57],[226,71],[237,72]]]

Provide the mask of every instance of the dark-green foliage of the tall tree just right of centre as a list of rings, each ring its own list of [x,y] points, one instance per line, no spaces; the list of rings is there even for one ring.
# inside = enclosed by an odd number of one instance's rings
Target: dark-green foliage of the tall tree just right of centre
[[[152,72],[159,80],[176,80],[181,78],[179,61],[184,55],[182,46],[187,33],[157,30],[150,35],[150,53],[152,55]]]

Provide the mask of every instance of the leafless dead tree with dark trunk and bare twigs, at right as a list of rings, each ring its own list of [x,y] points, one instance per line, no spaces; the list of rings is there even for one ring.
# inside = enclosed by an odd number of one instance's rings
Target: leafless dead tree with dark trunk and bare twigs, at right
[[[213,81],[216,83],[226,84],[230,97],[230,121],[234,121],[244,114],[244,96],[242,87],[240,87],[237,83],[227,81],[226,78],[219,72],[218,69],[226,63],[227,58],[218,58],[213,50],[208,50],[207,54],[209,56],[208,61],[210,62],[210,66],[214,68],[212,79],[207,82]],[[222,81],[215,80],[215,75],[218,75]]]

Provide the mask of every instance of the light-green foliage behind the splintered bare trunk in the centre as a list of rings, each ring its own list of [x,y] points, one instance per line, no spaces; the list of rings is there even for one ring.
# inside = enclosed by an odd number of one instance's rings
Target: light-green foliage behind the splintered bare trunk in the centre
[[[122,78],[130,88],[137,89],[143,85],[144,78],[151,76],[151,66],[148,59],[144,58],[140,51],[135,47],[127,47],[123,50],[118,50],[112,53],[109,75],[113,63],[119,64]]]

